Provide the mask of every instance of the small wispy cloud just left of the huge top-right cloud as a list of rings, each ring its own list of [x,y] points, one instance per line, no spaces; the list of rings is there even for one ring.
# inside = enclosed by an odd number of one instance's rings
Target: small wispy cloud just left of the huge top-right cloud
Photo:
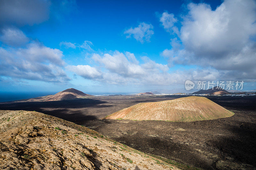
[[[174,14],[169,14],[168,12],[163,12],[162,16],[160,17],[160,22],[167,32],[173,32],[173,29],[176,29],[176,27],[173,28],[173,26],[177,21],[177,18],[174,18]]]

